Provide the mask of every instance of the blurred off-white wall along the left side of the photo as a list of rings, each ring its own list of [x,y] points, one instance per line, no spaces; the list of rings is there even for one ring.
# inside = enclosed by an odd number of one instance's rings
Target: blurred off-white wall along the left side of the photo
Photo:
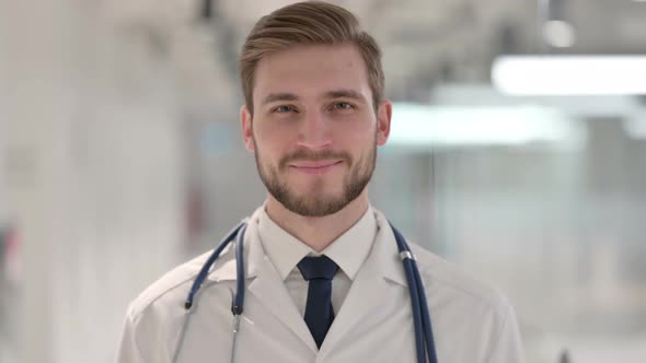
[[[171,72],[145,34],[99,10],[0,1],[2,203],[24,241],[19,362],[111,362],[127,302],[180,255]]]

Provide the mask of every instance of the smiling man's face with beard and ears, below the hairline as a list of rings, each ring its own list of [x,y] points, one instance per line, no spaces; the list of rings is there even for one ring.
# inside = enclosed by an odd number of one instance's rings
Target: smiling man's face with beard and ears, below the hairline
[[[374,110],[368,74],[351,45],[301,46],[263,58],[245,144],[263,183],[286,209],[323,216],[359,197],[390,130],[390,103]]]

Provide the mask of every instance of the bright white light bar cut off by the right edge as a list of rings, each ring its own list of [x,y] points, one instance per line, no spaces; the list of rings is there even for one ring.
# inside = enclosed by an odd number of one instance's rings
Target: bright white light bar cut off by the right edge
[[[646,57],[504,56],[492,81],[512,95],[646,94]]]

